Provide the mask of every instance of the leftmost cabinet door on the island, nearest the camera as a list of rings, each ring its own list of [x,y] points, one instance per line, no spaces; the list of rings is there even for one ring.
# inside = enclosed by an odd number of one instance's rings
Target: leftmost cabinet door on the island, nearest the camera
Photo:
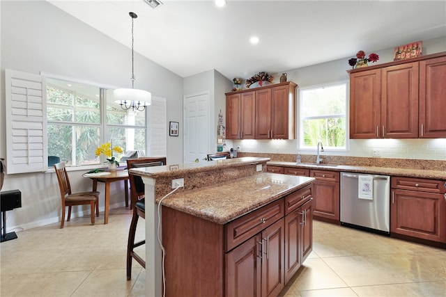
[[[261,296],[261,236],[226,254],[226,296]]]

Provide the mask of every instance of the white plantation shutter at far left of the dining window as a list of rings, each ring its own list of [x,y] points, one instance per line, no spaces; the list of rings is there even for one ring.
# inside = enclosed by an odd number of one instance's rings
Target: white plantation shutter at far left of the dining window
[[[5,70],[8,174],[47,170],[45,78]]]

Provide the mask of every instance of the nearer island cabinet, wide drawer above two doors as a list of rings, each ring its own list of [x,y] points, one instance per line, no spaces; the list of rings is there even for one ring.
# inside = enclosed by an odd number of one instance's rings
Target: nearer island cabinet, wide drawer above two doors
[[[254,241],[249,239],[253,235]],[[277,296],[282,291],[284,235],[283,199],[226,225],[227,296]],[[249,282],[245,282],[244,274]],[[251,281],[259,275],[261,278]]]

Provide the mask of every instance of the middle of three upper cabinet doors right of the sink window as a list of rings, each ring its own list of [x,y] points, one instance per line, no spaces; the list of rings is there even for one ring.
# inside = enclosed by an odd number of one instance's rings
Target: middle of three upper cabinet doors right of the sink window
[[[380,137],[418,137],[418,62],[382,70]]]

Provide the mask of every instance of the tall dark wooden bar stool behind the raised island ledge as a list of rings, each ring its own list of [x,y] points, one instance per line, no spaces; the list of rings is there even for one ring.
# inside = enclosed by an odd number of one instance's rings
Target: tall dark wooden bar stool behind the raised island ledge
[[[166,158],[155,157],[142,157],[139,159],[128,159],[127,168],[143,168],[151,166],[163,166],[166,165]],[[138,175],[133,175],[131,172],[128,174],[128,180],[130,182],[130,207],[133,208],[132,222],[130,223],[130,230],[128,232],[128,245],[127,245],[127,280],[132,278],[132,259],[135,259],[141,266],[146,268],[146,261],[141,258],[134,248],[142,246],[146,243],[146,240],[134,242],[134,237],[137,231],[138,218],[146,218],[146,203],[144,202],[144,182]]]

